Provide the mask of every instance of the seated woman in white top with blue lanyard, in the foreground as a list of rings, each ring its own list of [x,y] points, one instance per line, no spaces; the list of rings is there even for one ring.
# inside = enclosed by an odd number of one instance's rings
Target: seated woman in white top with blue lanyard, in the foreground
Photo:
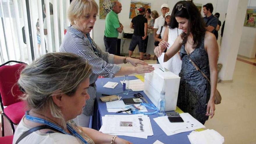
[[[77,55],[49,53],[22,70],[18,84],[25,92],[22,98],[29,111],[15,131],[13,144],[129,144],[117,136],[79,127],[72,120],[90,98],[91,69]],[[26,134],[29,130],[32,133]]]

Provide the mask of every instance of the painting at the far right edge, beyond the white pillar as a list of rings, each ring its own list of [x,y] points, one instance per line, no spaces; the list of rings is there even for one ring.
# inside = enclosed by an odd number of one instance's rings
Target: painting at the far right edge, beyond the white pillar
[[[243,26],[256,28],[256,7],[247,7]]]

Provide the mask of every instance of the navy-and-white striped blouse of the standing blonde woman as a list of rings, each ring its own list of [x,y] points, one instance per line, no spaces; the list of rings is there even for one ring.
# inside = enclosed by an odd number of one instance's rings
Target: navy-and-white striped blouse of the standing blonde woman
[[[77,54],[88,60],[89,64],[93,66],[88,88],[90,99],[86,100],[86,106],[83,108],[83,114],[90,116],[93,115],[93,105],[96,97],[95,81],[98,76],[113,78],[120,71],[121,66],[114,64],[114,55],[102,51],[90,38],[89,33],[86,36],[87,38],[81,31],[71,26],[67,27],[67,33],[61,44],[60,51]]]

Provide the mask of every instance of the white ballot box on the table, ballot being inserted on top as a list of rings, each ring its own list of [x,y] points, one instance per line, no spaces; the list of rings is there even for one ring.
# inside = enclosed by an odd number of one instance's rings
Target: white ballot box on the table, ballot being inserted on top
[[[145,73],[144,93],[157,106],[161,91],[165,91],[165,111],[176,110],[180,77],[162,68],[160,64],[153,64],[153,67],[153,72]]]

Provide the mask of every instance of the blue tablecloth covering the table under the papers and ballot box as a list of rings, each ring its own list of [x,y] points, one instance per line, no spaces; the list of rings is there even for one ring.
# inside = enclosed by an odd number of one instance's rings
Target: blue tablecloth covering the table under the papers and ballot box
[[[96,101],[95,101],[95,106],[94,106],[94,115],[93,115],[93,124],[92,124],[93,129],[96,129],[96,130],[100,129],[100,127],[102,126],[102,116],[104,116],[104,115],[128,115],[125,113],[109,113],[107,111],[106,103],[102,103],[99,99],[100,97],[102,97],[101,94],[119,95],[122,98],[130,98],[130,97],[133,97],[134,93],[138,93],[138,92],[133,92],[130,90],[129,95],[123,95],[122,84],[120,83],[120,81],[122,81],[123,79],[124,79],[124,77],[117,77],[114,79],[103,78],[103,79],[98,79],[96,81],[97,96],[96,96]],[[133,79],[137,79],[137,78],[129,77],[129,80],[133,80]],[[118,82],[118,85],[114,89],[103,88],[102,86],[104,86],[108,81]],[[147,101],[149,103],[152,103],[150,101],[150,99],[148,99],[148,97],[145,95],[145,93],[143,93],[143,91],[141,91],[140,93],[143,95],[143,97],[145,97],[147,99]],[[147,110],[149,112],[154,111],[151,109],[147,109]],[[131,141],[134,144],[136,144],[136,143],[150,144],[150,143],[154,143],[156,140],[159,140],[165,144],[168,144],[168,143],[190,144],[190,141],[189,141],[187,135],[189,135],[191,131],[180,133],[180,134],[175,134],[172,136],[167,136],[163,132],[163,130],[157,125],[157,123],[153,120],[153,118],[157,117],[157,114],[148,115],[148,116],[150,117],[150,122],[151,122],[153,133],[154,133],[153,136],[148,136],[147,139],[135,138],[135,137],[129,137],[129,136],[118,136],[118,137],[126,139],[127,141]]]

